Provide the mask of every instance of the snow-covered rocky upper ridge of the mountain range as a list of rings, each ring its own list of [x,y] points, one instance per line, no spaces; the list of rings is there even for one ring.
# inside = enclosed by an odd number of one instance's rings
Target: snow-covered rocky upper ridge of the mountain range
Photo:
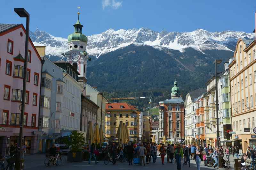
[[[253,33],[240,31],[208,32],[197,29],[192,32],[156,32],[148,28],[113,30],[87,36],[88,45],[86,51],[89,55],[99,57],[101,54],[115,51],[118,48],[130,44],[148,45],[154,48],[170,48],[184,52],[191,47],[204,53],[204,50],[230,50],[233,51],[239,38],[252,39]],[[68,50],[66,38],[55,37],[45,31],[30,32],[30,38],[35,45],[46,46],[46,55],[60,56]]]

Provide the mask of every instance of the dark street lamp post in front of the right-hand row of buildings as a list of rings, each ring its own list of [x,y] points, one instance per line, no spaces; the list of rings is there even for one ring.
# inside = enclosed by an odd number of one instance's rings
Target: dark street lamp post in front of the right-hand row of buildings
[[[215,91],[216,91],[216,122],[217,122],[217,147],[220,145],[219,140],[219,104],[218,104],[218,64],[220,64],[222,60],[215,60]]]

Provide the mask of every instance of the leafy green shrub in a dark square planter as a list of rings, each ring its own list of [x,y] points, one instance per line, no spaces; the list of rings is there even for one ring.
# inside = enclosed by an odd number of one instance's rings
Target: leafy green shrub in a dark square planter
[[[71,150],[68,152],[68,161],[81,162],[83,158],[82,150],[85,144],[83,133],[73,130],[66,140],[64,140],[64,143],[71,146]]]

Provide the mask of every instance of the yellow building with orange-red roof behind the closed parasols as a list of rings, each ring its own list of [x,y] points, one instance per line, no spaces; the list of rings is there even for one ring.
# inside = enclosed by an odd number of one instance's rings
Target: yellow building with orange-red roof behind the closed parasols
[[[119,122],[125,123],[128,127],[130,141],[139,140],[140,111],[128,103],[106,104],[105,132],[106,138],[110,141],[116,140],[116,132]]]

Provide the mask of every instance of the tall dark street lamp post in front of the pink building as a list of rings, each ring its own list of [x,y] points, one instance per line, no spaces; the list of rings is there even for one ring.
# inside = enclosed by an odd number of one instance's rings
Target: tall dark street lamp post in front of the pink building
[[[28,59],[28,34],[29,34],[29,13],[24,8],[14,8],[14,11],[21,17],[26,18],[26,40],[25,40],[25,61],[23,69],[23,88],[22,88],[22,103],[21,103],[21,113],[20,113],[20,137],[19,137],[19,146],[20,152],[18,152],[18,160],[20,162],[22,155],[22,137],[23,137],[23,117],[25,111],[25,100],[26,100],[26,75],[27,75],[27,59]],[[21,42],[20,42],[21,43]],[[22,164],[20,163],[20,168]]]

